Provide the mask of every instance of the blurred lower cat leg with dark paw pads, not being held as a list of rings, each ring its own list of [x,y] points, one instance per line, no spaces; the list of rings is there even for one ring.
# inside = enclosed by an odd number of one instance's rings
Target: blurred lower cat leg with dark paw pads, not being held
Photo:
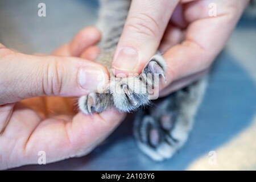
[[[135,140],[151,159],[171,158],[187,141],[205,92],[206,79],[172,93],[155,107],[141,111],[136,116],[133,130]],[[148,118],[151,118],[150,122]]]

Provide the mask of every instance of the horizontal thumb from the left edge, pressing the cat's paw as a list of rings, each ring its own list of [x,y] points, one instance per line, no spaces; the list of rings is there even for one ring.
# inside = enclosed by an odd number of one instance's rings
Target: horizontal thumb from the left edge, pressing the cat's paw
[[[0,65],[0,105],[35,96],[82,96],[108,80],[105,67],[76,57],[24,55],[2,47]]]

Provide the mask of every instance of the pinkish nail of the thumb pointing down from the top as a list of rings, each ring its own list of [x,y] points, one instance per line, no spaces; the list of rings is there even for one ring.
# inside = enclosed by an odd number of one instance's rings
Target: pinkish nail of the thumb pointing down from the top
[[[122,71],[133,71],[138,63],[138,52],[131,47],[123,47],[113,63],[113,68]]]

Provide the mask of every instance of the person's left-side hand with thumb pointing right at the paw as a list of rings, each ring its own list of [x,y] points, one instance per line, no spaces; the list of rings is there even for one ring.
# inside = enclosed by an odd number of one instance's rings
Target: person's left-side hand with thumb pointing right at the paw
[[[86,60],[98,55],[100,37],[96,28],[85,28],[55,56],[24,55],[1,44],[0,169],[36,164],[40,151],[46,163],[88,154],[122,121],[114,109],[76,113],[74,98],[63,97],[97,89],[100,74],[108,80],[105,67]]]

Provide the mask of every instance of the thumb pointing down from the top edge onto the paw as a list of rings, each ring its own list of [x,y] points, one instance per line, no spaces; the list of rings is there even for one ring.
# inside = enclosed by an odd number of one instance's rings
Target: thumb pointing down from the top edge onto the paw
[[[141,73],[159,47],[179,0],[131,1],[112,68],[118,73]],[[126,74],[127,75],[127,74]]]

